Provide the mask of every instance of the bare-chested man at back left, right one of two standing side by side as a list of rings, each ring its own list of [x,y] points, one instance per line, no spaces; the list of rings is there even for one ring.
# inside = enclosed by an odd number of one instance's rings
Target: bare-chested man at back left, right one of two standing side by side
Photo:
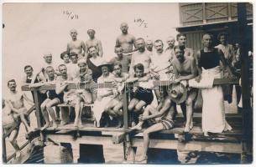
[[[85,51],[86,58],[88,58],[88,52],[89,52],[88,48],[90,48],[91,46],[95,46],[97,48],[99,56],[102,57],[103,55],[102,42],[97,38],[95,38],[94,36],[95,30],[88,29],[87,34],[89,35],[90,39],[86,41],[86,51]]]

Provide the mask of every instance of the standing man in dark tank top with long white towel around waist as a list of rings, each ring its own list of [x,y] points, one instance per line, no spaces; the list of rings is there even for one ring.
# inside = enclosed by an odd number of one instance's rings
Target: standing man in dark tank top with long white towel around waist
[[[214,78],[222,78],[222,63],[230,77],[234,77],[231,68],[228,66],[224,54],[218,48],[212,45],[212,34],[206,33],[203,35],[203,49],[198,51],[198,68],[199,76],[196,79],[189,81],[189,86],[192,88],[201,88],[203,99],[201,128],[205,136],[208,132],[222,133],[222,131],[232,129],[225,119],[224,99],[222,86],[207,85],[207,81]],[[196,80],[196,81],[195,81]]]

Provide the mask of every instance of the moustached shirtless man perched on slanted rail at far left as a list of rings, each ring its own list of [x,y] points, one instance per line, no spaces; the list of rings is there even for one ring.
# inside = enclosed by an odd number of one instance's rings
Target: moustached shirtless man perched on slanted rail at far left
[[[14,79],[8,81],[8,89],[10,90],[7,94],[6,101],[8,104],[8,107],[11,109],[11,112],[13,113],[14,119],[21,119],[22,123],[24,124],[26,130],[28,132],[33,131],[33,129],[29,126],[27,119],[25,116],[27,116],[28,110],[24,106],[24,99],[30,104],[34,105],[33,101],[30,100],[26,94],[23,94],[20,91],[16,90],[17,84]]]

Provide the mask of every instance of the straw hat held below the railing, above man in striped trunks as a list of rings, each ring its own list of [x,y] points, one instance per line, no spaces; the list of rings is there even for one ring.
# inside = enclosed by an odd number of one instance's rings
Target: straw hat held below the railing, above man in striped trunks
[[[181,83],[171,83],[168,86],[168,91],[170,94],[170,99],[176,104],[183,103],[187,97],[187,89]]]

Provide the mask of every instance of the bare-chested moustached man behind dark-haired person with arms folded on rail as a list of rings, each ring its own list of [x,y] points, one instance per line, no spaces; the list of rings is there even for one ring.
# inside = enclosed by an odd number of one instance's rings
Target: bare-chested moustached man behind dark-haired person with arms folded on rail
[[[144,66],[144,73],[149,73],[149,64],[151,63],[151,55],[149,51],[145,49],[145,41],[144,38],[137,38],[136,41],[137,51],[133,53],[131,65],[129,69],[129,74],[131,76],[134,75],[133,66],[138,63],[142,63]]]

